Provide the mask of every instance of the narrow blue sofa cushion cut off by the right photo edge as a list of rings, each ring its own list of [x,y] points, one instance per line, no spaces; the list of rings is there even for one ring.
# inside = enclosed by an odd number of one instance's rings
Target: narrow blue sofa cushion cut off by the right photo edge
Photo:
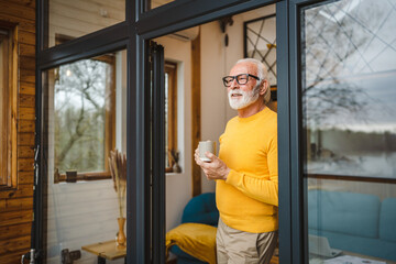
[[[380,239],[396,242],[396,198],[387,198],[382,202],[380,212]]]

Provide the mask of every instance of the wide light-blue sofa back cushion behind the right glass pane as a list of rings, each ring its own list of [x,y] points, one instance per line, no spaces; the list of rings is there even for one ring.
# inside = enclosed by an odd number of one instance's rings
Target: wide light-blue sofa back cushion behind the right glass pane
[[[308,227],[376,239],[380,208],[380,198],[374,195],[309,190]]]

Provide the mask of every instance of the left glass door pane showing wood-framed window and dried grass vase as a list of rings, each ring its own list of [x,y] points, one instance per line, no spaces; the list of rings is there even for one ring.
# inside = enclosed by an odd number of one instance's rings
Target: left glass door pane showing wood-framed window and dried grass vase
[[[125,56],[43,73],[43,263],[124,263]]]

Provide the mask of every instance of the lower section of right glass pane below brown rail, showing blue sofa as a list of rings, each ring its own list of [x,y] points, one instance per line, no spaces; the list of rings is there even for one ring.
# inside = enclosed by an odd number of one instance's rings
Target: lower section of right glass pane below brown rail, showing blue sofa
[[[396,185],[308,178],[309,263],[396,263]]]

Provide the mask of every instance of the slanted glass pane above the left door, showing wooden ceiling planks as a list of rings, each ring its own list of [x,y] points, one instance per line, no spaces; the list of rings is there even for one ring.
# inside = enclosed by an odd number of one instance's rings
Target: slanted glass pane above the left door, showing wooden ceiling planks
[[[125,20],[125,0],[48,0],[47,46],[87,35]]]

